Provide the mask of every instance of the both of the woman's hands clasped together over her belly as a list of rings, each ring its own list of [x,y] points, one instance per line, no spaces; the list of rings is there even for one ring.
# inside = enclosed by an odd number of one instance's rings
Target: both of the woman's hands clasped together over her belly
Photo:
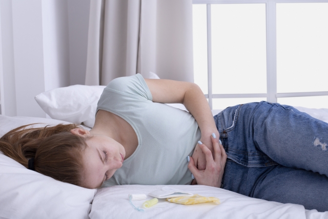
[[[219,143],[219,136],[213,133],[210,136],[211,139],[206,138],[200,139],[201,141],[198,142],[192,157],[190,157],[188,168],[197,181],[196,183],[194,180],[192,185],[198,184],[220,188],[227,154]]]

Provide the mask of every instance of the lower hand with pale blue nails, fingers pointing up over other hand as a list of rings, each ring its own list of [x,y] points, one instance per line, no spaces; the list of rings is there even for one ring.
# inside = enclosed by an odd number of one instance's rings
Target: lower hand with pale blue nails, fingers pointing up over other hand
[[[227,154],[223,146],[219,144],[217,138],[211,136],[214,149],[214,158],[210,149],[204,144],[198,144],[206,157],[206,169],[198,170],[193,157],[190,157],[189,170],[194,175],[198,185],[206,185],[220,188],[224,166],[226,166]]]

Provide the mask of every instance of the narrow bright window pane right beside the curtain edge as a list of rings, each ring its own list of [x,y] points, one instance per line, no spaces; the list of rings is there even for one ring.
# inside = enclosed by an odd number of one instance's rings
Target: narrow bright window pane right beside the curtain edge
[[[193,5],[194,82],[208,94],[206,5]]]

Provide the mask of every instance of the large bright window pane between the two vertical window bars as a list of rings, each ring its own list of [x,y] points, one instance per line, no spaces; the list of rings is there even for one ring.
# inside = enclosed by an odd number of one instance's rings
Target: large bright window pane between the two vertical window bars
[[[212,4],[213,94],[267,93],[265,4]]]

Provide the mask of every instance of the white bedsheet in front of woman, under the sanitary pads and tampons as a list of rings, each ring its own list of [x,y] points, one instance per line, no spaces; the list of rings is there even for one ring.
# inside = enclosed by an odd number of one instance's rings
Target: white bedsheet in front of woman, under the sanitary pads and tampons
[[[328,218],[328,211],[305,210],[302,205],[268,202],[228,190],[200,185],[170,185],[170,187],[203,196],[214,196],[220,199],[221,204],[179,205],[159,200],[158,204],[145,209],[145,212],[139,212],[130,205],[128,194],[148,194],[161,187],[163,186],[124,185],[98,189],[93,199],[90,218]],[[151,198],[153,197],[147,196],[147,200]],[[142,203],[145,201],[132,202],[136,207],[142,208]]]

